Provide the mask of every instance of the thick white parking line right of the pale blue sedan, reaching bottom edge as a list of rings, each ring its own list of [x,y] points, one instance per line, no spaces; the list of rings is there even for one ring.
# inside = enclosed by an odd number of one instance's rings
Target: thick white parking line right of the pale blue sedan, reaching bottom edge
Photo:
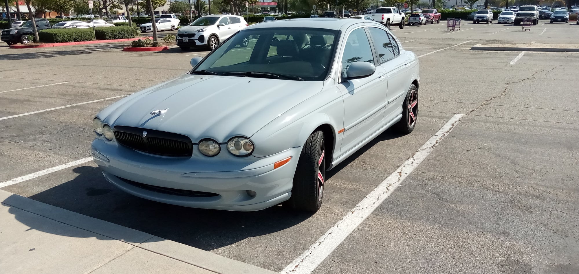
[[[336,247],[340,245],[447,136],[452,128],[463,119],[464,114],[455,114],[420,149],[404,162],[394,173],[379,184],[358,205],[354,206],[342,220],[338,221],[320,239],[296,258],[280,273],[310,274]]]

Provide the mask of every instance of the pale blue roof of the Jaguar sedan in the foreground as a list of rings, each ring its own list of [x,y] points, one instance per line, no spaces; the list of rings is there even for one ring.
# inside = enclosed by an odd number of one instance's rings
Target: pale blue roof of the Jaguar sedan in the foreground
[[[336,31],[350,27],[354,24],[363,24],[359,20],[347,20],[348,18],[294,18],[277,20],[267,24],[253,24],[246,29],[254,28],[325,28]],[[378,23],[377,23],[378,24]]]

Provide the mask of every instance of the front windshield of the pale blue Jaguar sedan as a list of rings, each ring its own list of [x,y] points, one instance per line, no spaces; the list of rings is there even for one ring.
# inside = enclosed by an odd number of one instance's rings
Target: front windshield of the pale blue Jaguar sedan
[[[278,79],[321,81],[328,74],[337,36],[338,31],[318,28],[244,30],[226,40],[195,70],[241,77],[259,72],[270,73],[262,75],[266,78],[278,75]],[[241,47],[241,43],[247,46]]]

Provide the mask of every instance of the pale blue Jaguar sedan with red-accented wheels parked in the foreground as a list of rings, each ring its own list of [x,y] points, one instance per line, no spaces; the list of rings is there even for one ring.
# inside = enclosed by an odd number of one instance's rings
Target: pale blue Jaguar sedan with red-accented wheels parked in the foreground
[[[94,161],[123,191],[193,208],[315,212],[329,169],[387,128],[416,127],[417,57],[373,21],[254,24],[190,62],[94,118]]]

